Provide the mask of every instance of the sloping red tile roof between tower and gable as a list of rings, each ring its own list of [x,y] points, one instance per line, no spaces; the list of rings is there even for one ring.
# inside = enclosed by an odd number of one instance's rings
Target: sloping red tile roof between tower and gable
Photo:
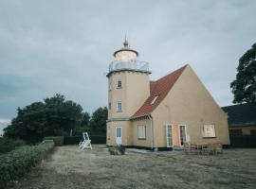
[[[165,77],[159,78],[158,80],[150,81],[150,96],[131,118],[142,117],[153,112],[172,89],[174,83],[178,77],[180,77],[186,66],[187,65],[175,70],[173,73]],[[156,98],[155,103],[151,104],[155,99],[155,96],[158,97]]]

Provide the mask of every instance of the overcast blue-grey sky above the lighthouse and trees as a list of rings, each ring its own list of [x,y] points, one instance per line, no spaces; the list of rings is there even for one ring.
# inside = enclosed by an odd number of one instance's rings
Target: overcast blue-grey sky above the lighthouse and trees
[[[256,1],[0,2],[0,119],[61,93],[107,105],[108,64],[125,33],[151,79],[190,63],[220,106],[239,58],[256,43]]]

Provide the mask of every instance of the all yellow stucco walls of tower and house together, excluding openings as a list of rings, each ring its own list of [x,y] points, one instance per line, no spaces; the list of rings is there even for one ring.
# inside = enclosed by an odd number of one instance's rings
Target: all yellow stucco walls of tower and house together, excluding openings
[[[112,90],[109,91],[112,107],[108,119],[130,117],[150,94],[149,77],[146,74],[125,71],[113,74],[109,79],[112,84]],[[122,80],[121,89],[117,89],[119,79]],[[122,101],[122,112],[117,112],[117,101]],[[169,94],[152,112],[152,117],[154,147],[167,146],[166,124],[171,123],[186,125],[191,142],[221,142],[229,145],[227,114],[217,105],[190,66],[186,67]],[[215,126],[216,138],[203,138],[204,124]],[[137,138],[138,125],[146,126],[146,140]],[[108,122],[107,129],[110,130],[108,146],[116,146],[116,127],[118,126],[122,130],[123,146],[152,146],[149,119]]]

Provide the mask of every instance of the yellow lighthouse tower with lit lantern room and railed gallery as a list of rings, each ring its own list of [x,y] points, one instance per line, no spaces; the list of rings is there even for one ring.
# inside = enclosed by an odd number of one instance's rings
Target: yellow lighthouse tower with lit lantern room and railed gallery
[[[137,60],[138,53],[125,39],[109,65],[107,145],[132,146],[130,117],[150,95],[149,63]]]

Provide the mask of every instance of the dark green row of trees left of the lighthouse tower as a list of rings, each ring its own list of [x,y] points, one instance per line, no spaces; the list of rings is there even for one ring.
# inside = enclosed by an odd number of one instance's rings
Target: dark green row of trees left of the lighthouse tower
[[[81,136],[106,134],[107,108],[99,108],[91,115],[82,106],[55,94],[43,101],[17,109],[17,116],[4,129],[4,136],[37,143],[46,136]]]

